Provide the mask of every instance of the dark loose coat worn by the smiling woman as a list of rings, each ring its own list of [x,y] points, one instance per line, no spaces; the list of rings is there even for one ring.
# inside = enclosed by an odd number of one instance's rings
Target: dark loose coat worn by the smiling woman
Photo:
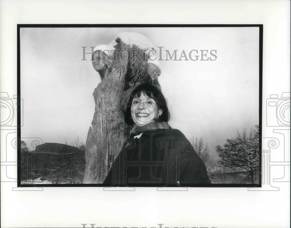
[[[205,164],[177,129],[132,133],[113,162],[106,186],[211,184]]]

